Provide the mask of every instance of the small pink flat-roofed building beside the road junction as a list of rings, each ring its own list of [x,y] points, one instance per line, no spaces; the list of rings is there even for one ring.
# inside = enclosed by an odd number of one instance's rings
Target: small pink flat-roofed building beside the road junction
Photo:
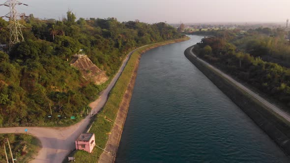
[[[76,149],[85,150],[91,153],[95,146],[95,134],[93,133],[83,133],[76,140]]]

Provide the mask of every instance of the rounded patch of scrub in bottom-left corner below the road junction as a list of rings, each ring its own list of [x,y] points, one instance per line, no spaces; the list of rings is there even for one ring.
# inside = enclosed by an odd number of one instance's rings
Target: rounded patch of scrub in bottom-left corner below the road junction
[[[3,147],[5,138],[8,138],[9,140],[13,158],[17,159],[16,163],[28,163],[33,156],[37,154],[40,146],[40,142],[37,138],[27,134],[1,134],[0,163],[6,163]],[[12,163],[8,142],[4,143],[4,145],[9,163]]]

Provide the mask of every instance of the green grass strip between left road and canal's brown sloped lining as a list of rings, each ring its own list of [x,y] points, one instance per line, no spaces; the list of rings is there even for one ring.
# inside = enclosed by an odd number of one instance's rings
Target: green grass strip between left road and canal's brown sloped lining
[[[101,148],[105,148],[106,146],[106,143],[109,138],[109,135],[107,133],[109,133],[112,130],[114,123],[106,120],[105,116],[112,120],[116,119],[120,103],[128,87],[128,84],[131,80],[132,74],[135,70],[136,61],[138,60],[140,55],[152,48],[174,43],[174,42],[185,41],[188,39],[189,39],[188,37],[184,37],[181,39],[169,40],[169,41],[165,41],[161,43],[150,44],[136,50],[130,56],[122,74],[120,75],[114,88],[110,92],[110,96],[108,98],[107,103],[105,104],[104,108],[100,111],[100,113],[97,114],[97,117],[90,129],[90,133],[95,134],[96,145],[100,146]],[[76,158],[76,163],[96,163],[99,160],[99,157],[102,153],[103,151],[101,149],[95,147],[92,153],[78,150],[78,151],[73,151],[70,154],[70,156],[73,156]],[[66,159],[67,158],[65,158],[64,163],[66,163]]]

